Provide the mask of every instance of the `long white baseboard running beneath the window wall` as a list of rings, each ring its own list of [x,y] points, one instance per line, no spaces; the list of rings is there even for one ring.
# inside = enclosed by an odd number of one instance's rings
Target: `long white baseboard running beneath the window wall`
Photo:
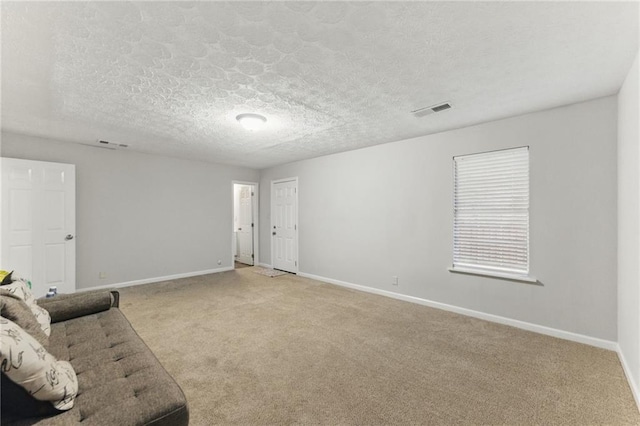
[[[496,322],[498,324],[509,325],[512,327],[520,328],[527,331],[533,331],[535,333],[545,334],[547,336],[558,337],[560,339],[570,340],[572,342],[584,343],[586,345],[595,346],[602,349],[608,349],[610,351],[616,351],[618,344],[610,340],[598,339],[596,337],[585,336],[583,334],[572,333],[570,331],[558,330],[543,325],[532,324],[525,321],[519,321],[507,317],[501,317],[499,315],[487,314],[480,311],[474,311],[472,309],[461,308],[454,305],[448,305],[446,303],[434,302],[428,299],[422,299],[415,296],[408,296],[406,294],[394,293],[392,291],[380,290],[373,287],[367,287],[360,284],[348,283],[345,281],[334,280],[332,278],[321,277],[318,275],[307,274],[304,272],[298,272],[301,277],[311,278],[316,281],[323,281],[329,284],[335,284],[342,287],[347,287],[355,290],[364,291],[367,293],[378,294],[380,296],[391,297],[393,299],[403,300],[405,302],[417,303],[419,305],[429,306],[431,308],[442,309],[444,311],[455,312],[457,314],[466,315],[486,321]]]

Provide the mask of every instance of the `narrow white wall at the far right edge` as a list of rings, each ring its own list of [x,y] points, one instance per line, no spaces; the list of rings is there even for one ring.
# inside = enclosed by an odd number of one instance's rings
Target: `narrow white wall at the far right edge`
[[[638,57],[618,94],[618,344],[640,404],[640,133]]]

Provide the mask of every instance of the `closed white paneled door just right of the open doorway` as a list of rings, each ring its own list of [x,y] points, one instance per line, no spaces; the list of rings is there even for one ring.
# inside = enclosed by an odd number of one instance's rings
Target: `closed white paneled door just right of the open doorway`
[[[298,272],[298,179],[271,186],[271,253],[274,269]]]

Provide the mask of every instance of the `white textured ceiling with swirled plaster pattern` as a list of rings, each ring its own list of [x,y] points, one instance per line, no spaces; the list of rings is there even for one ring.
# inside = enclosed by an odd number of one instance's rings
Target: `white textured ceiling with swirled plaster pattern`
[[[3,129],[254,168],[611,95],[638,51],[638,3],[1,7]]]

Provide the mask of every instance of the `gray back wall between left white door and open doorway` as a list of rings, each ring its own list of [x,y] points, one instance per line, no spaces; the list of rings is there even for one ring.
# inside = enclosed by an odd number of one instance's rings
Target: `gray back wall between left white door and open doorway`
[[[232,267],[231,182],[258,179],[246,168],[8,132],[2,156],[76,165],[79,289]]]

